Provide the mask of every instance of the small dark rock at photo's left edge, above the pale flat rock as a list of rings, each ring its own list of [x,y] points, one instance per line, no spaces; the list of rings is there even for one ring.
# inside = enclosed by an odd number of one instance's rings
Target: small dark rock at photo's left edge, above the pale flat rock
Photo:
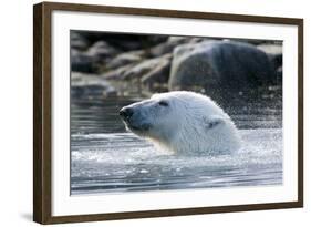
[[[71,70],[76,72],[94,72],[94,59],[81,51],[71,50]]]

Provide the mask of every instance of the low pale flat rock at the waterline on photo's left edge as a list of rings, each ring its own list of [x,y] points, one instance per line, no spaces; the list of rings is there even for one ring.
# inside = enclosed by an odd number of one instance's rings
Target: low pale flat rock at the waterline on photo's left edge
[[[75,72],[71,74],[71,95],[80,97],[116,94],[116,90],[101,76]]]

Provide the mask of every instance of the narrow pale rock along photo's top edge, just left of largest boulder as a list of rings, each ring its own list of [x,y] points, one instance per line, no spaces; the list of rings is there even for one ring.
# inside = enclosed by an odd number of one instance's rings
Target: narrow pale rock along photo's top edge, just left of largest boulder
[[[153,47],[149,50],[152,56],[159,56],[166,53],[172,53],[173,50],[184,43],[196,43],[203,41],[204,38],[190,38],[190,37],[169,37],[166,42]]]

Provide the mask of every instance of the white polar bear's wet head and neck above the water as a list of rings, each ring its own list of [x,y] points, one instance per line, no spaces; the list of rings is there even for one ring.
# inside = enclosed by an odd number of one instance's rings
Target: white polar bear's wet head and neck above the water
[[[210,97],[188,91],[154,94],[124,106],[127,130],[174,154],[234,152],[240,147],[231,118]]]

